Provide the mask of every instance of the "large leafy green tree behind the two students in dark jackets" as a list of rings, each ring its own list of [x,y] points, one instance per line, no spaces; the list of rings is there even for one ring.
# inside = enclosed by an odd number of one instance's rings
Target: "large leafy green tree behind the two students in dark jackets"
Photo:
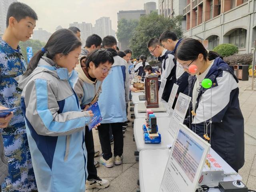
[[[130,40],[130,48],[135,57],[140,55],[149,56],[147,43],[151,38],[159,38],[165,30],[176,33],[178,38],[182,38],[183,16],[175,18],[164,18],[156,12],[140,17],[139,24],[135,28]]]

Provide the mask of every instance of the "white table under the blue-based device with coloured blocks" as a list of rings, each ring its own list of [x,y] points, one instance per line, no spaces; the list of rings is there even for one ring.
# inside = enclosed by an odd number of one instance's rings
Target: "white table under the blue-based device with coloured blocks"
[[[170,117],[157,118],[158,132],[161,134],[162,141],[159,144],[148,144],[144,142],[144,131],[142,130],[142,125],[145,124],[145,118],[136,118],[134,120],[133,132],[137,151],[140,152],[143,149],[167,148],[167,145],[172,144],[174,138],[172,138],[171,134],[168,132],[170,120]]]

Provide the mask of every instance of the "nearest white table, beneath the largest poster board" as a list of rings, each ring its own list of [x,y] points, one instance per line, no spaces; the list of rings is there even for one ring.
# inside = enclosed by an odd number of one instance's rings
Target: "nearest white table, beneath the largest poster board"
[[[211,154],[218,156],[212,149]],[[165,149],[146,149],[140,151],[139,155],[139,178],[141,192],[159,192],[166,164],[170,155],[170,150]],[[219,159],[220,156],[219,156]],[[234,172],[232,168],[222,160],[219,162],[225,172]],[[224,176],[224,181],[242,180],[240,175]],[[219,189],[210,189],[209,192],[220,192]]]

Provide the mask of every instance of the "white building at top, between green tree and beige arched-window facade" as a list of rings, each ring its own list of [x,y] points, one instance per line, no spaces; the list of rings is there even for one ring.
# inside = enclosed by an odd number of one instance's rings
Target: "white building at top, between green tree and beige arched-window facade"
[[[158,14],[170,18],[183,15],[183,9],[186,5],[187,0],[159,0]],[[186,18],[182,21],[182,29],[186,31]]]

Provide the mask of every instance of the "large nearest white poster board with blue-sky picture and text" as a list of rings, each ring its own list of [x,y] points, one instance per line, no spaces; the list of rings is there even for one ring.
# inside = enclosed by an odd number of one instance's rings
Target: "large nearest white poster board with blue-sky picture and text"
[[[179,124],[159,192],[194,192],[210,144]]]

